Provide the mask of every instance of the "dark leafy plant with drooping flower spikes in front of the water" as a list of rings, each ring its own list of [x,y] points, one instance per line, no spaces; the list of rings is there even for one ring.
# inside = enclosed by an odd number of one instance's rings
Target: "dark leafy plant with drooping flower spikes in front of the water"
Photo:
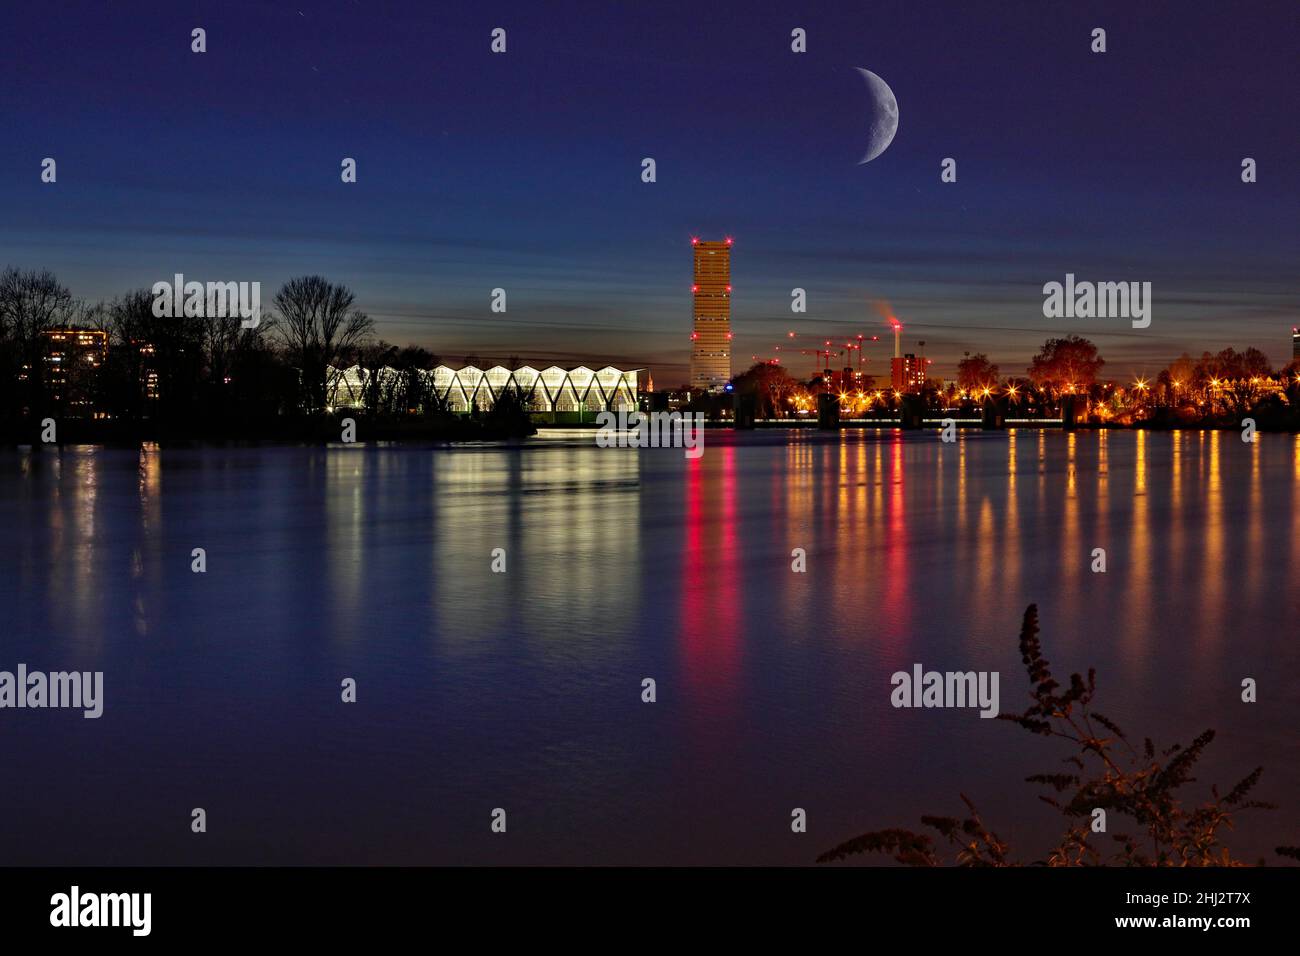
[[[1096,672],[1084,680],[1070,675],[1062,688],[1052,676],[1039,643],[1039,610],[1030,605],[1020,626],[1020,659],[1028,672],[1034,704],[1023,714],[1001,714],[1032,734],[1060,737],[1074,748],[1065,758],[1069,770],[1026,778],[1050,788],[1053,795],[1039,799],[1054,806],[1065,818],[1066,830],[1056,847],[1037,866],[1244,866],[1221,842],[1231,830],[1234,814],[1251,809],[1274,809],[1273,804],[1248,800],[1264,767],[1256,767],[1227,795],[1210,788],[1210,800],[1188,806],[1180,788],[1192,783],[1192,770],[1205,748],[1214,740],[1206,730],[1188,747],[1174,744],[1157,752],[1147,737],[1135,749],[1127,735],[1104,714],[1092,709]],[[1018,866],[1010,849],[985,826],[975,804],[962,795],[968,816],[922,817],[954,853],[958,866]],[[1092,831],[1096,810],[1106,821],[1131,821],[1134,832]],[[1109,842],[1106,838],[1109,836]],[[1300,847],[1278,847],[1280,856],[1300,858]],[[930,834],[911,830],[874,830],[833,847],[818,862],[842,860],[855,853],[890,853],[909,866],[939,866],[941,861]],[[1262,864],[1262,861],[1261,861]]]

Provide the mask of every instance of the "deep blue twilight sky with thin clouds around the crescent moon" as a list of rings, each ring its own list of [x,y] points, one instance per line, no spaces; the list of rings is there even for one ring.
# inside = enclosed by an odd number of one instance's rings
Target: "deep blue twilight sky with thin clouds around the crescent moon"
[[[644,364],[664,385],[685,377],[690,235],[733,235],[736,371],[788,329],[880,333],[876,302],[944,376],[966,350],[1019,373],[1069,332],[1117,376],[1226,345],[1282,364],[1300,321],[1296,9],[6,3],[0,265],[90,299],[174,272],[269,295],[318,272],[396,343]],[[861,166],[855,66],[901,117]],[[1041,286],[1066,272],[1150,281],[1152,326],[1044,319]]]

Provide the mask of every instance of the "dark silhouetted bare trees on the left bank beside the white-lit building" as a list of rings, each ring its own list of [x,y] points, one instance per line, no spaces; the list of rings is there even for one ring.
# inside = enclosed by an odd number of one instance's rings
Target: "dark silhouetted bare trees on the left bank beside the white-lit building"
[[[439,358],[374,336],[344,285],[321,276],[285,282],[260,321],[238,316],[160,317],[138,289],[112,302],[72,295],[49,271],[0,273],[0,423],[10,432],[46,418],[150,421],[168,433],[256,432],[274,418],[318,416],[341,369],[368,371],[363,411],[442,416],[428,376]],[[51,362],[51,333],[84,329],[105,347]],[[100,336],[103,338],[99,338]],[[378,373],[378,369],[395,369]]]

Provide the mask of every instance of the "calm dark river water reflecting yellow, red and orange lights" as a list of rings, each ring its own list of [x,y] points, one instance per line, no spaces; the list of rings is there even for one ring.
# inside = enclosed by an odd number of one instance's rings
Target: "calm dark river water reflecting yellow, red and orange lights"
[[[1054,818],[1022,780],[1065,752],[889,705],[919,662],[1000,671],[1022,708],[1030,602],[1050,661],[1095,666],[1138,739],[1214,727],[1205,784],[1266,767],[1282,809],[1236,849],[1300,843],[1295,436],[0,462],[0,670],[101,670],[107,698],[99,721],[0,710],[0,862],[809,862],[959,792],[1035,858]]]

